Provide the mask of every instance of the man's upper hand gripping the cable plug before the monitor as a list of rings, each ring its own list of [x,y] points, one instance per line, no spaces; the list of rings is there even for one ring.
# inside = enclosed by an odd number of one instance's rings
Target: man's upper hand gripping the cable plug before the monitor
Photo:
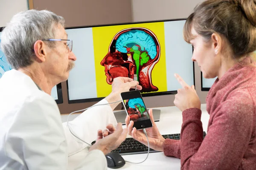
[[[136,85],[138,90],[142,89],[138,81],[135,81],[129,77],[116,77],[112,83],[112,92],[105,99],[109,103],[120,101],[120,94],[122,92],[129,91],[130,88],[135,88]],[[119,103],[111,104],[112,110],[116,108],[118,104]]]

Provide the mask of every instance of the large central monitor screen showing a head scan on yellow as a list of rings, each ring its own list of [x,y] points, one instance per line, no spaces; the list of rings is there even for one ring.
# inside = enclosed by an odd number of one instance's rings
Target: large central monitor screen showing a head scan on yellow
[[[183,40],[186,20],[66,28],[76,66],[67,80],[68,102],[99,101],[115,77],[137,80],[142,96],[176,94],[179,74],[194,85],[192,45]]]

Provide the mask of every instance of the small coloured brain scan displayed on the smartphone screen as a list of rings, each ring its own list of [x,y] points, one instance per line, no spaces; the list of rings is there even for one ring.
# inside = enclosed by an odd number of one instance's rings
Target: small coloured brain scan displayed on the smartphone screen
[[[149,119],[147,109],[141,98],[124,100],[125,108],[134,122]]]

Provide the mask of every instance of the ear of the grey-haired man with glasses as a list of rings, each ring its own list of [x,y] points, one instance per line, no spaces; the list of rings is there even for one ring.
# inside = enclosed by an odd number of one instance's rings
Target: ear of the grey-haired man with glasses
[[[37,40],[34,44],[35,60],[44,62],[46,58],[46,45],[42,40]]]

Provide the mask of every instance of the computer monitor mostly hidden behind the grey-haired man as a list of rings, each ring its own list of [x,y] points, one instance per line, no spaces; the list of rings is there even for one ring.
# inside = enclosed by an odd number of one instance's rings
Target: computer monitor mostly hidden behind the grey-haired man
[[[0,36],[1,36],[2,30],[3,30],[3,27],[0,27]],[[1,39],[0,39],[0,44],[1,44]],[[6,57],[0,48],[0,78],[3,76],[3,74],[6,71],[9,71],[9,70],[12,70],[12,66],[7,62]],[[59,83],[58,85],[55,85],[52,88],[51,96],[53,97],[53,99],[55,99],[55,102],[57,104],[63,103],[61,83]]]

